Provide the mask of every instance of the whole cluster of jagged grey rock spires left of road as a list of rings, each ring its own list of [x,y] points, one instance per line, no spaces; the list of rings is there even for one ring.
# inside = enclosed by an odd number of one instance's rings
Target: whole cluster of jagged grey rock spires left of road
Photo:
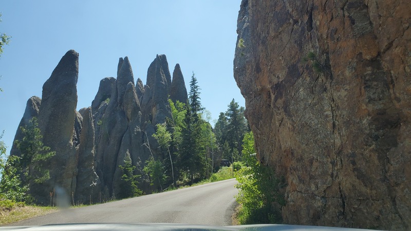
[[[152,137],[156,124],[172,118],[169,104],[171,75],[165,55],[157,55],[147,71],[147,85],[140,79],[134,85],[133,70],[128,60],[120,58],[117,79],[104,78],[91,107],[76,111],[78,57],[68,51],[43,86],[42,99],[32,97],[17,129],[15,140],[22,139],[20,126],[37,117],[43,143],[56,155],[48,163],[50,179],[35,185],[31,193],[36,202],[48,204],[49,193],[65,196],[71,203],[95,203],[114,198],[121,190],[119,165],[127,156],[141,175],[145,161],[160,155]],[[180,71],[181,72],[181,71]],[[184,80],[176,86],[185,92]],[[141,104],[140,104],[141,101]],[[151,151],[144,145],[150,143]],[[13,146],[11,155],[20,155]],[[146,179],[139,187],[151,192]],[[67,203],[68,201],[66,201]]]

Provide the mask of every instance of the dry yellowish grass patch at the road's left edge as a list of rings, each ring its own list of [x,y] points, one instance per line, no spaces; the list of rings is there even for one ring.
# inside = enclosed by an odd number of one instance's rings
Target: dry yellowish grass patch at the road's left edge
[[[22,203],[12,206],[11,208],[1,206],[0,225],[7,225],[13,222],[43,216],[56,211],[58,211],[57,207],[29,206]]]

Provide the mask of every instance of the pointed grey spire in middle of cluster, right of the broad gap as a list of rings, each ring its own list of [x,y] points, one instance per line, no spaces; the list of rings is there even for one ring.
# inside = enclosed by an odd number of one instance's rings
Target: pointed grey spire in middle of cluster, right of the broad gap
[[[112,195],[121,177],[117,163],[121,163],[126,151],[139,153],[142,149],[140,103],[128,57],[119,61],[115,87],[101,121],[98,125],[100,132],[96,168],[109,195]]]

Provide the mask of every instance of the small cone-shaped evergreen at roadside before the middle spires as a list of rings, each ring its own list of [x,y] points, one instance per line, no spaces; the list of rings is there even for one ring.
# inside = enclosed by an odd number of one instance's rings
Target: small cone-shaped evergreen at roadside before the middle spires
[[[133,166],[132,159],[130,158],[130,153],[126,152],[124,157],[124,164],[119,166],[122,171],[123,176],[121,176],[120,192],[118,194],[119,198],[130,198],[143,195],[137,187],[137,179],[141,177],[140,175],[134,175],[136,166]]]

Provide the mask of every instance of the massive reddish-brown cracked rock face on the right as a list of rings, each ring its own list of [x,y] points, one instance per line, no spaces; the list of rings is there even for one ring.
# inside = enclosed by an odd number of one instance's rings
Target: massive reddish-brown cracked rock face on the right
[[[234,76],[258,158],[285,178],[285,223],[411,228],[409,12],[241,2]]]

